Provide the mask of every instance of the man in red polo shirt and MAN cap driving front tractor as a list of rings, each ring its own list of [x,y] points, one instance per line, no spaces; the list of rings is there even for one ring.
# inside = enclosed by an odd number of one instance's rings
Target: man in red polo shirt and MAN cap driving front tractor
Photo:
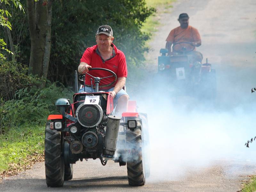
[[[112,43],[113,40],[112,28],[109,25],[100,26],[96,33],[97,44],[84,51],[78,72],[84,74],[90,68],[106,68],[116,73],[117,81],[100,90],[110,93],[111,97],[114,98],[114,106],[116,106],[115,115],[121,116],[122,112],[127,110],[129,100],[128,94],[123,89],[127,77],[127,66],[124,53],[116,48]],[[109,76],[108,72],[102,70],[92,70],[89,74],[96,77]],[[100,84],[109,84],[113,78],[102,79]],[[86,76],[86,82],[90,82],[89,76]],[[84,91],[84,89],[85,92],[92,92],[90,87],[85,87],[79,92]]]

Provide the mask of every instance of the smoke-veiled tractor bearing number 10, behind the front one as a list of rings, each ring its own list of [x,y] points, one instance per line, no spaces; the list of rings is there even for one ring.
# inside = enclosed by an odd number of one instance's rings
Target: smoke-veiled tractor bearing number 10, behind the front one
[[[176,46],[181,46],[181,49],[177,50]],[[215,69],[212,69],[207,59],[203,64],[196,61],[195,56],[191,54],[194,49],[195,46],[190,42],[173,44],[173,52],[161,49],[157,79],[167,83],[166,89],[175,95],[198,95],[200,98],[214,99],[217,89]]]

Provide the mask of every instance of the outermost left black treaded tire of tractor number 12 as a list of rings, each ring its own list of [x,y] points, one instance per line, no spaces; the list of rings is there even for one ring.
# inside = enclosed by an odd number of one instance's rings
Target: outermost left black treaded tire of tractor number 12
[[[64,161],[61,155],[60,132],[45,127],[44,164],[45,178],[48,187],[62,187],[64,182]]]

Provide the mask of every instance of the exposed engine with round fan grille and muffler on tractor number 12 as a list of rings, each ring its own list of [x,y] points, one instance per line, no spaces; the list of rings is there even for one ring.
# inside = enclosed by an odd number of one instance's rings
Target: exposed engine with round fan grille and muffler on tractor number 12
[[[95,104],[84,102],[86,93],[75,96],[76,120],[68,124],[69,134],[65,137],[69,140],[69,163],[83,158],[113,158],[115,155],[120,118],[106,116],[105,95],[98,93],[99,103]],[[65,149],[66,153],[69,149]]]

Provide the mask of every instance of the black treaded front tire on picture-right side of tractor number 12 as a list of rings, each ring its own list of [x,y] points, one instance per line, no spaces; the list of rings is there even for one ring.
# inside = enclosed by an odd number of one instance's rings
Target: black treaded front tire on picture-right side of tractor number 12
[[[142,141],[141,130],[126,130],[126,146],[131,150],[127,159],[128,183],[132,186],[142,186],[145,184],[145,172],[142,161]]]

